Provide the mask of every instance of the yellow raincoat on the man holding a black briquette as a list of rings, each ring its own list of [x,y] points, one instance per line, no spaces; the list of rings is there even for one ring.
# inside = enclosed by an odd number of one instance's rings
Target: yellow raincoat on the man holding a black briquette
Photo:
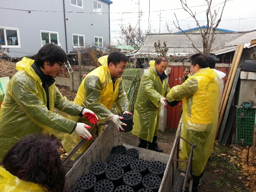
[[[122,77],[116,78],[114,87],[113,81],[108,69],[108,56],[103,56],[98,59],[102,66],[88,73],[83,79],[74,102],[87,109],[93,110],[98,116],[98,124],[104,123],[110,109],[116,104],[118,112],[128,110],[129,102],[124,90]],[[84,123],[87,121],[85,120]],[[103,126],[98,126],[99,134],[102,132]],[[91,141],[86,141],[87,145]]]

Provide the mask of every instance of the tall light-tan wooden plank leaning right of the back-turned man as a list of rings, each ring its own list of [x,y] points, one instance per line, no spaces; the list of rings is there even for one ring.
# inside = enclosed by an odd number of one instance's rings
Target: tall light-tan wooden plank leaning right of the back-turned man
[[[223,96],[222,96],[222,99],[221,99],[221,104],[220,104],[220,107],[219,107],[219,119],[218,119],[216,136],[218,135],[218,131],[219,131],[219,128],[220,128],[220,125],[221,125],[221,120],[222,120],[222,117],[223,117],[223,114],[224,114],[224,110],[226,108],[228,95],[230,93],[230,90],[231,90],[231,87],[232,87],[232,84],[233,84],[233,80],[234,80],[234,77],[235,77],[235,72],[237,70],[237,67],[238,67],[242,52],[243,52],[243,46],[244,46],[243,44],[237,45],[237,49],[236,49],[234,59],[233,59],[233,62],[232,62],[232,67],[231,67],[230,73],[229,73],[228,78],[227,78],[227,85],[224,89],[224,93],[223,93]]]

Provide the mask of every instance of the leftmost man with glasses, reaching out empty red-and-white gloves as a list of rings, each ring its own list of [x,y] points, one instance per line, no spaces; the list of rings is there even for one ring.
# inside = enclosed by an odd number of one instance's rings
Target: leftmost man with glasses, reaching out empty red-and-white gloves
[[[80,137],[92,138],[86,129],[89,125],[54,113],[56,108],[72,116],[84,115],[92,124],[98,122],[91,110],[68,101],[56,88],[54,78],[66,62],[67,55],[60,47],[47,44],[35,55],[35,61],[24,57],[16,64],[18,72],[8,82],[0,109],[0,160],[21,137],[34,132],[57,136],[67,152]]]

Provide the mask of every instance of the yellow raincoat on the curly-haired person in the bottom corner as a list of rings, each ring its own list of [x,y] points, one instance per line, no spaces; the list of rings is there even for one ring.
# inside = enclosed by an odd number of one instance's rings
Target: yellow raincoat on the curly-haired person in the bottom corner
[[[0,189],[4,192],[43,192],[40,185],[20,180],[0,167]]]

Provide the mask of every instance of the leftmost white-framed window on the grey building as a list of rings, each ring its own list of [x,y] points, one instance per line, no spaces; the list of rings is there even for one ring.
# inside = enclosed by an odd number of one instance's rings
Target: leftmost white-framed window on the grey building
[[[20,48],[19,29],[0,27],[0,45],[3,48]]]

